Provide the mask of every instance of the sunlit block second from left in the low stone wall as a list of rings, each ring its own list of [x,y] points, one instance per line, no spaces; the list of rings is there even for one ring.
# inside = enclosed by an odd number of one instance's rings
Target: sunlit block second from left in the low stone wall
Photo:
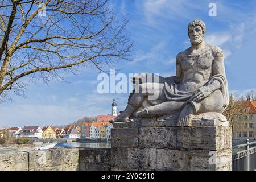
[[[49,150],[29,151],[29,168],[30,170],[36,168],[52,167],[52,152]]]

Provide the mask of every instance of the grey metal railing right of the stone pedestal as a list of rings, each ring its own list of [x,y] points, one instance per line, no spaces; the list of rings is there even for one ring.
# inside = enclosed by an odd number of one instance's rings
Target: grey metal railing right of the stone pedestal
[[[232,146],[232,149],[245,147],[245,150],[232,153],[232,171],[255,171],[256,170],[256,146],[251,145],[256,142],[250,142],[246,139],[245,144]]]

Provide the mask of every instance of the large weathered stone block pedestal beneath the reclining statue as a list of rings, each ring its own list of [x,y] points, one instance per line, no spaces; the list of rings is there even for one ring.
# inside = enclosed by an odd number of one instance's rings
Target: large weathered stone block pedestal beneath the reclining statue
[[[223,117],[199,116],[191,126],[174,119],[113,124],[111,170],[231,170],[232,136]]]

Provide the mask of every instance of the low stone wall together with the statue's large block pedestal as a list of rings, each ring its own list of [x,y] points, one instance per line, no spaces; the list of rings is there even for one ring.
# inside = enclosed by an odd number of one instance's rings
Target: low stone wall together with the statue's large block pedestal
[[[231,170],[228,121],[191,126],[157,118],[114,123],[111,149],[58,148],[0,153],[2,170]]]

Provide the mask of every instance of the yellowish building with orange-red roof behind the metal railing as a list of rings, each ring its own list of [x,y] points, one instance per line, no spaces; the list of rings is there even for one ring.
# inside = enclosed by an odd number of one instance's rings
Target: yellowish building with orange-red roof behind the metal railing
[[[256,139],[256,101],[250,96],[242,103],[245,114],[233,117],[233,139]]]

